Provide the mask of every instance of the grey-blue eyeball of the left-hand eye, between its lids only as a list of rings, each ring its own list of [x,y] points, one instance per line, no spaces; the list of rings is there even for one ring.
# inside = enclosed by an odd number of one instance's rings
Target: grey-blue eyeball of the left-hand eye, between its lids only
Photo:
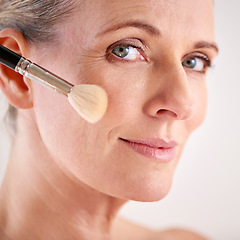
[[[144,60],[144,57],[140,53],[137,47],[129,46],[129,45],[119,45],[112,49],[112,53],[122,59],[125,60]]]

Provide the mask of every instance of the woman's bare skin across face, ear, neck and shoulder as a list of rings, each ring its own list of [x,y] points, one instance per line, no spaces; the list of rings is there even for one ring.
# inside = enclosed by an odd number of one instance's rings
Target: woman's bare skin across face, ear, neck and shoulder
[[[138,24],[125,25],[133,19]],[[37,45],[5,29],[0,43],[73,84],[103,87],[108,110],[87,123],[66,97],[1,66],[2,92],[18,108],[0,192],[1,239],[204,239],[180,229],[153,232],[117,213],[127,200],[167,195],[186,140],[205,117],[202,57],[217,54],[212,1],[86,1],[57,34],[56,44]],[[118,41],[142,50],[118,58]],[[184,67],[190,57],[205,67]],[[176,155],[153,161],[120,138],[174,140]]]

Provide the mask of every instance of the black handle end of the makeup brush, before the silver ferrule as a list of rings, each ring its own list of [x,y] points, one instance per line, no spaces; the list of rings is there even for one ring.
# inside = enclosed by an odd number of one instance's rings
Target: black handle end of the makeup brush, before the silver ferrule
[[[15,70],[22,56],[0,45],[0,63]]]

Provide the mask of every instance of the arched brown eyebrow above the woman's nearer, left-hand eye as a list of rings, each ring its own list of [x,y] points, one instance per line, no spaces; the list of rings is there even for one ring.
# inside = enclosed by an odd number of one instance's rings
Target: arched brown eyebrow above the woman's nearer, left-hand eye
[[[123,23],[117,24],[115,26],[112,26],[110,28],[107,28],[103,32],[99,33],[98,35],[103,35],[103,34],[106,34],[106,33],[109,33],[109,32],[114,32],[114,31],[117,31],[119,29],[128,28],[128,27],[135,27],[135,28],[143,29],[147,33],[149,33],[151,35],[154,35],[154,36],[161,36],[162,35],[160,30],[158,30],[157,28],[155,28],[155,27],[153,27],[153,26],[151,26],[147,23],[141,22],[141,21],[123,22]]]

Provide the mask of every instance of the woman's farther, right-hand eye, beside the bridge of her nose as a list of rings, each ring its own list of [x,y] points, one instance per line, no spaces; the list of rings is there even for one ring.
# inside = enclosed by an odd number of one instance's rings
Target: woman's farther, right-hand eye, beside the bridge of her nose
[[[197,72],[206,72],[208,67],[211,67],[210,59],[204,55],[197,53],[194,56],[188,56],[182,61],[182,65]]]

